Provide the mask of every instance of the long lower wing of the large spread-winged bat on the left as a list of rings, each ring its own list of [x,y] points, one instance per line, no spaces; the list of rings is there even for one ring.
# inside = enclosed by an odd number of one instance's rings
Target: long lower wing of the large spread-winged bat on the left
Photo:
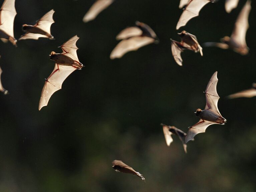
[[[59,68],[59,70],[58,70]],[[42,107],[48,104],[48,101],[55,91],[61,89],[63,81],[74,71],[76,68],[66,65],[55,64],[52,74],[45,81],[41,98],[39,101],[39,111]]]

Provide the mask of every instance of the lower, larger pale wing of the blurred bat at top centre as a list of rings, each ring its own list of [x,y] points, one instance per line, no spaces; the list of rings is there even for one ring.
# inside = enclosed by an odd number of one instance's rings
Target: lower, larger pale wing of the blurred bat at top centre
[[[136,51],[139,48],[154,43],[155,39],[147,36],[131,37],[119,42],[110,54],[110,59],[121,58],[129,51]]]

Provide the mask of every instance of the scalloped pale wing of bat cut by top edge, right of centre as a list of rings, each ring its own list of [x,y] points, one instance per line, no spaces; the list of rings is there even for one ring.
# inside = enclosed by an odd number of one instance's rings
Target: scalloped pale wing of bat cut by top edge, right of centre
[[[216,0],[190,0],[187,3],[186,8],[183,10],[181,17],[177,23],[176,29],[185,26],[187,22],[199,15],[200,10],[210,2],[216,2]]]

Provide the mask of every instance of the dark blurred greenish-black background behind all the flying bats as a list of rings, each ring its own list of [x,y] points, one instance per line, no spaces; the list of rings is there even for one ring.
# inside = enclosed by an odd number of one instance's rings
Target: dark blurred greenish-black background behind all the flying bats
[[[1,4],[2,4],[1,0]],[[82,18],[94,0],[19,0],[14,35],[22,24],[55,10],[55,40],[0,42],[0,191],[11,192],[212,192],[256,191],[256,98],[228,100],[255,82],[255,2],[249,16],[247,45],[241,56],[232,50],[204,48],[204,56],[184,51],[183,67],[171,53],[170,38],[186,30],[199,43],[230,35],[246,2],[230,14],[224,0],[207,4],[200,16],[176,31],[182,13],[178,0],[119,0],[88,23]],[[151,44],[121,59],[110,60],[115,36],[141,21],[156,32]],[[44,78],[54,68],[51,51],[78,35],[78,58],[85,67],[73,72],[62,90],[38,111]],[[218,71],[219,110],[226,125],[211,125],[188,143],[178,138],[167,147],[161,123],[183,131],[198,122],[206,88]],[[116,173],[111,162],[122,160],[140,171],[146,183]]]

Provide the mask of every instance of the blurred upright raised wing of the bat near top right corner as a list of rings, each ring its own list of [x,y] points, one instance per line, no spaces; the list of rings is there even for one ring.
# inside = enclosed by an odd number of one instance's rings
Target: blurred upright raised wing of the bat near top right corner
[[[246,37],[246,31],[249,28],[248,17],[249,17],[250,10],[251,10],[251,1],[247,0],[243,9],[238,15],[234,30],[231,35],[231,39],[241,47],[247,47],[245,37]]]

